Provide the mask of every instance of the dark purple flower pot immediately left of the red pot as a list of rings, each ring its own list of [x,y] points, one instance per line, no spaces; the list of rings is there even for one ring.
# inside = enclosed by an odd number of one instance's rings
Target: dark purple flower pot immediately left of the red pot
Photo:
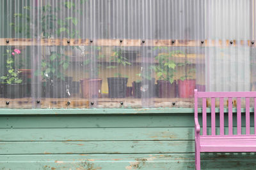
[[[158,97],[159,98],[174,98],[177,95],[177,81],[157,80]]]

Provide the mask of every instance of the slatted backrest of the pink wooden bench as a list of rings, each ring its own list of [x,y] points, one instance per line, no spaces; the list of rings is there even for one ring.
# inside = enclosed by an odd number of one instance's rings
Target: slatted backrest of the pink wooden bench
[[[256,134],[256,92],[197,92],[195,89],[195,118],[198,118],[198,98],[202,98],[202,134],[207,135],[207,98],[211,99],[211,135],[216,135],[215,101],[220,98],[220,135],[224,135],[224,99],[228,99],[228,135],[233,134],[233,104],[237,99],[237,135],[241,134],[241,97],[245,98],[246,134],[250,134],[250,98],[253,98],[254,134]]]

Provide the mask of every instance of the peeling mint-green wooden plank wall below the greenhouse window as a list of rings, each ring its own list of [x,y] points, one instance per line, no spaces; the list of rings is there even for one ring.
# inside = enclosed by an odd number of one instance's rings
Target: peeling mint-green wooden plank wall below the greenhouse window
[[[191,109],[0,115],[0,169],[195,169]],[[202,169],[256,169],[255,159],[254,153],[207,153]]]

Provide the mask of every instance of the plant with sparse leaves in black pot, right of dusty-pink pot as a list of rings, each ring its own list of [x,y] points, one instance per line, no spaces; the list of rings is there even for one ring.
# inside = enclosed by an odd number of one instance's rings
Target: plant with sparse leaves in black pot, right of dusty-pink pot
[[[131,65],[131,62],[128,62],[128,59],[123,55],[124,51],[119,48],[114,52],[114,55],[111,56],[111,66],[108,66],[108,69],[114,69],[116,67],[120,68],[121,66]],[[116,64],[114,66],[114,64]],[[114,74],[114,77],[108,78],[108,97],[109,98],[124,98],[126,97],[128,77],[123,76],[120,71]]]

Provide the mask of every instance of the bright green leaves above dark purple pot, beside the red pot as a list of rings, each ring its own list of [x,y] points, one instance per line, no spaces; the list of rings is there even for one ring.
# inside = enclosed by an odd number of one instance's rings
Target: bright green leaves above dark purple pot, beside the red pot
[[[176,72],[177,64],[174,62],[173,57],[184,54],[184,52],[180,50],[173,50],[169,51],[167,47],[155,47],[156,49],[164,49],[164,53],[159,53],[159,55],[156,56],[156,59],[158,60],[159,64],[158,66],[152,66],[152,69],[156,72],[157,76],[159,77],[159,80],[166,80],[170,81],[170,83],[173,83],[174,81],[174,73]]]

